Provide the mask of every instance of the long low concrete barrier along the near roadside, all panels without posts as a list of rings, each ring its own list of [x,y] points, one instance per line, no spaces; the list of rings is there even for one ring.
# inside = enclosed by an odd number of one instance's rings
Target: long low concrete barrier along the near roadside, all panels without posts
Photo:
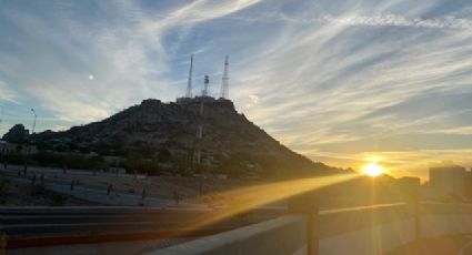
[[[421,237],[472,233],[472,206],[424,205]],[[307,254],[307,217],[283,216],[148,255]],[[320,255],[376,255],[414,242],[414,208],[393,205],[321,213]]]

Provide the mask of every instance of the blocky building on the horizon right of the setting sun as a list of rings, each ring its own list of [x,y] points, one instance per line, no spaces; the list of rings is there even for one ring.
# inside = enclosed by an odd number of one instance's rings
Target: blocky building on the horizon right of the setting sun
[[[464,195],[471,185],[465,167],[452,161],[431,164],[429,174],[431,188],[446,195]]]

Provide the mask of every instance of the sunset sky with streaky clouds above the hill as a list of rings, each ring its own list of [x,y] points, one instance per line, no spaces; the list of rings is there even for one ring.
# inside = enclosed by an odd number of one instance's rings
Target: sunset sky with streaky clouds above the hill
[[[333,166],[472,166],[470,0],[0,0],[0,134],[194,93]]]

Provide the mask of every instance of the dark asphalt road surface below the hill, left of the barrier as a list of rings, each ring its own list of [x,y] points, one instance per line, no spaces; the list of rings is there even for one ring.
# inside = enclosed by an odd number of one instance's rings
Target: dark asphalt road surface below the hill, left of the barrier
[[[192,237],[233,230],[281,215],[283,211],[258,210],[191,230],[211,217],[212,210],[149,207],[1,207],[0,231],[8,247],[99,243],[129,239]]]

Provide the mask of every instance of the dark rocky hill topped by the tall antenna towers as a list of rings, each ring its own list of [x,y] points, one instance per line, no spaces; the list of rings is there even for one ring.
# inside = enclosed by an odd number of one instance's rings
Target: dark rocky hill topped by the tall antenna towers
[[[149,99],[103,121],[63,132],[46,131],[30,139],[42,150],[143,159],[167,155],[179,167],[195,167],[197,162],[203,170],[223,173],[299,175],[340,171],[292,152],[238,113],[231,101],[212,98],[177,103]],[[197,161],[195,155],[200,155]]]

